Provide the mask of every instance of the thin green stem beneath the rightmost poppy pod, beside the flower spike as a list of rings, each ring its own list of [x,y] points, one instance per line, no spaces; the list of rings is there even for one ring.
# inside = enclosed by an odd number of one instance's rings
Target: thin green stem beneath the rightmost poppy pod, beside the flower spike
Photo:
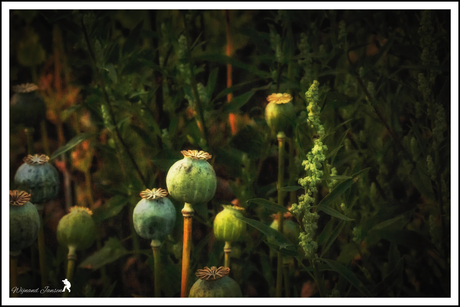
[[[284,193],[281,191],[284,179],[284,147],[286,135],[284,132],[278,132],[278,205],[284,207]],[[278,231],[283,233],[284,214],[278,212]],[[278,252],[278,265],[276,271],[276,296],[281,297],[283,287],[283,255]]]

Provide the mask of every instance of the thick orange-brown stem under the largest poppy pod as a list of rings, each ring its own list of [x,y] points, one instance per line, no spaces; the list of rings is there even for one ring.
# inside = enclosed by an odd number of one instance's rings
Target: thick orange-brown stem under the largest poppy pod
[[[193,210],[191,204],[185,203],[181,212],[184,217],[184,241],[182,245],[182,279],[180,296],[188,297],[188,273],[190,269],[190,250],[192,247],[192,220],[195,210]]]

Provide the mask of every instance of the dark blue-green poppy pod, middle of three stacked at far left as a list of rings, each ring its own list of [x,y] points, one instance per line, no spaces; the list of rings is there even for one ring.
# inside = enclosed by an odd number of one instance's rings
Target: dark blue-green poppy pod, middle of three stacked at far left
[[[59,174],[48,160],[46,155],[28,155],[14,175],[17,188],[30,193],[34,204],[46,203],[59,191]]]

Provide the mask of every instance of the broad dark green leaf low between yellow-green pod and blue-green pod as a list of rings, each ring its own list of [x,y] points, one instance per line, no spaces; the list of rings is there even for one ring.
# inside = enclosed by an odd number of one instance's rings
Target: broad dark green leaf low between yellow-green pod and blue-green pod
[[[105,242],[103,248],[86,258],[78,267],[97,270],[127,254],[129,251],[124,248],[123,244],[117,238],[112,237]]]

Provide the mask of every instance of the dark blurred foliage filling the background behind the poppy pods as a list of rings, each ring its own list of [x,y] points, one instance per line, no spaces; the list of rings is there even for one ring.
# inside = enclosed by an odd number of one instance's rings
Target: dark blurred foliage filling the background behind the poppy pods
[[[133,231],[132,210],[140,191],[166,187],[183,149],[212,154],[218,176],[214,199],[195,208],[192,271],[223,265],[224,242],[212,233],[222,204],[239,204],[247,217],[272,222],[269,205],[247,202],[276,196],[278,151],[264,119],[266,97],[294,97],[298,118],[287,150],[293,146],[296,157],[285,186],[295,186],[312,145],[304,94],[318,80],[326,177],[332,167],[347,176],[337,177],[340,182],[366,170],[329,204],[351,221],[320,212],[319,270],[327,296],[450,296],[449,11],[228,16],[11,12],[11,86],[39,86],[47,112],[34,127],[33,152],[51,156],[62,182],[45,208],[50,287],[61,287],[66,261],[57,223],[78,205],[93,210],[98,240],[78,256],[73,295],[153,295],[150,242]],[[26,154],[24,126],[11,122],[10,182]],[[318,202],[333,191],[326,180],[318,190]],[[292,195],[289,204],[301,193]],[[178,222],[161,254],[161,291],[169,297],[180,292],[182,204],[174,204]],[[267,233],[248,227],[234,244],[231,276],[244,296],[274,295],[276,244],[269,245]],[[39,280],[33,249],[19,262],[23,287]],[[303,251],[286,257],[290,295],[318,296]]]

